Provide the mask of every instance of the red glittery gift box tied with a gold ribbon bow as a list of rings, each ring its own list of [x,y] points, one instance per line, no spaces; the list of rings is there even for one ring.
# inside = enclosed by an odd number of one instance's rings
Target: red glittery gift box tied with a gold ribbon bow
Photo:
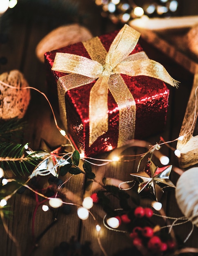
[[[129,27],[129,29],[131,28]],[[98,37],[107,52],[109,51],[109,47],[111,46],[114,38],[117,35],[118,35],[118,31]],[[94,39],[91,39],[91,40],[94,40]],[[88,45],[89,45],[89,41],[87,41]],[[87,49],[85,49],[85,45],[86,44],[83,44],[83,43],[76,43],[73,45],[69,45],[67,47],[63,47],[61,49],[47,52],[45,54],[45,63],[47,66],[47,83],[50,86],[49,90],[57,88],[58,79],[60,79],[61,77],[67,76],[69,73],[72,73],[72,72],[62,72],[62,70],[59,70],[59,71],[52,70],[56,53],[75,54],[75,56],[78,55],[77,57],[82,56],[82,57],[91,59],[88,53],[90,52],[90,50],[87,51]],[[95,48],[97,49],[97,47]],[[132,52],[129,53],[129,56],[130,55],[136,56],[137,53],[143,52],[142,47],[140,46],[139,43],[136,43],[133,48],[134,49],[132,50]],[[97,52],[96,49],[93,49],[93,54],[100,54],[100,52],[96,53]],[[120,49],[122,51],[122,47]],[[142,62],[144,61],[145,60],[143,59]],[[76,68],[76,65],[74,65],[74,69],[75,68]],[[149,68],[150,68],[150,64],[149,64]],[[84,68],[82,67],[82,69]],[[103,72],[104,69],[105,68],[103,67],[103,70],[101,72]],[[85,72],[87,72],[86,68],[85,68]],[[113,72],[105,74],[105,76],[106,75],[110,76],[111,74],[114,75]],[[102,74],[104,74],[104,72]],[[121,75],[122,80],[124,80],[124,83],[127,85],[127,88],[132,94],[132,97],[134,98],[134,102],[136,106],[135,118],[132,120],[133,123],[135,122],[135,124],[133,124],[135,129],[133,128],[132,134],[131,135],[128,134],[127,138],[125,138],[125,135],[123,136],[122,143],[119,145],[119,146],[122,146],[123,144],[126,144],[127,141],[129,141],[130,139],[133,139],[133,138],[143,139],[163,130],[165,126],[165,121],[166,121],[169,89],[167,88],[167,86],[163,81],[154,78],[156,77],[155,75],[153,75],[154,77],[147,76],[147,75],[137,75],[137,74],[135,76],[130,76],[127,74],[122,74],[122,72],[120,72],[119,75]],[[167,82],[166,79],[163,79],[163,80]],[[82,86],[77,86],[76,88],[72,88],[72,89],[70,89],[71,88],[70,87],[69,90],[64,89],[65,88],[64,83],[67,83],[67,81],[64,82],[64,79],[63,81],[60,82],[61,85],[60,83],[58,84],[59,104],[60,106],[62,106],[62,103],[65,104],[63,107],[61,107],[62,112],[65,112],[65,116],[64,116],[64,113],[62,115],[62,122],[63,124],[65,124],[65,126],[67,126],[65,127],[67,129],[67,134],[73,141],[73,144],[76,146],[76,148],[79,149],[80,152],[84,152],[85,156],[93,156],[99,153],[104,153],[118,146],[118,137],[119,137],[118,127],[119,127],[119,122],[121,120],[120,112],[119,112],[120,110],[118,108],[118,104],[116,103],[116,100],[113,98],[109,90],[108,90],[108,97],[107,97],[108,130],[103,132],[102,135],[98,136],[97,139],[93,141],[92,144],[90,144],[89,142],[89,139],[90,139],[89,138],[90,136],[89,135],[89,131],[90,131],[90,126],[89,126],[90,125],[89,124],[90,99],[89,98],[90,98],[91,88],[96,83],[96,81],[97,79],[95,79],[90,83],[87,83]],[[76,80],[74,80],[73,83],[75,84]],[[119,98],[119,95],[118,95],[118,98]],[[129,103],[129,101],[127,100],[124,104],[125,115],[124,115],[124,120],[122,120],[122,122],[125,124],[124,127],[126,128],[126,130],[128,128],[130,129],[130,126],[131,126],[131,115],[127,114],[128,104],[130,105],[131,103]],[[64,111],[64,109],[65,110],[67,109],[67,114],[66,114],[66,111]],[[67,124],[65,122],[66,121],[65,119],[67,119]],[[125,130],[125,128],[124,129],[122,128],[122,129]],[[126,134],[126,132],[124,134]]]

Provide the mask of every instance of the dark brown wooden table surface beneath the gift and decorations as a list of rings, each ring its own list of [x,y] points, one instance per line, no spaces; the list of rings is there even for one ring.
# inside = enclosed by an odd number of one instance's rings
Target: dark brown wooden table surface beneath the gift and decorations
[[[81,8],[82,13],[85,10],[89,13],[89,17],[85,18],[83,22],[91,30],[94,36],[113,31],[117,28],[116,26],[101,20],[98,9],[96,9],[96,6],[91,0],[83,2]],[[4,26],[6,26],[9,40],[7,43],[0,45],[0,56],[6,56],[8,62],[6,65],[0,66],[0,72],[2,73],[18,69],[24,74],[30,86],[38,88],[42,92],[47,92],[47,85],[45,84],[45,67],[44,64],[40,63],[36,58],[35,49],[38,42],[51,31],[56,23],[58,23],[56,18],[51,17],[51,22],[49,22],[49,18],[42,19],[41,14],[39,16],[35,13],[35,15],[31,14],[31,17],[29,18],[28,16],[25,16],[24,21],[22,21],[21,16],[20,18],[16,17],[10,20],[3,19],[1,22],[1,31],[4,31]],[[10,21],[10,23],[8,21]],[[8,24],[6,22],[8,22]],[[145,49],[145,52],[147,52],[149,58],[162,63],[171,76],[176,80],[181,81],[178,90],[169,87],[170,99],[165,131],[147,138],[147,141],[149,141],[150,144],[156,144],[156,142],[159,141],[160,136],[166,141],[178,137],[191,91],[193,76],[141,38],[140,43]],[[58,112],[56,111],[55,113],[58,123],[61,124]],[[40,146],[41,139],[46,140],[52,147],[66,143],[66,140],[56,129],[47,101],[42,95],[38,94],[38,92],[31,92],[31,102],[24,119],[27,121],[28,127],[22,138],[22,143],[29,142],[31,149],[37,150]],[[171,146],[176,146],[176,144],[171,144]],[[145,152],[145,150],[145,148],[131,147],[125,151],[125,154],[139,154]],[[172,150],[163,146],[161,152],[170,157],[171,164],[178,166],[178,160],[174,156]],[[102,157],[107,158],[108,155],[109,154],[105,154],[102,155]],[[127,181],[131,179],[129,174],[131,172],[136,172],[138,162],[139,159],[132,162],[118,162],[100,167],[93,166],[93,171],[100,181],[102,180],[102,177]],[[155,159],[155,163],[160,166],[160,162],[157,158]],[[174,184],[176,184],[178,177],[178,174],[173,171],[171,172],[171,181]],[[98,188],[99,187],[94,185],[92,191],[97,191]],[[85,192],[84,175],[76,175],[70,182],[68,182],[65,193],[67,200],[75,202],[76,204],[82,204],[82,198],[85,195],[90,195],[92,191]],[[167,216],[179,217],[182,215],[176,204],[174,190],[165,193],[161,202]],[[114,203],[116,207],[116,202]],[[9,238],[3,226],[0,225],[0,255],[52,256],[53,249],[62,241],[68,242],[72,236],[74,236],[81,244],[89,241],[94,255],[103,255],[97,240],[95,222],[91,217],[89,217],[88,220],[81,221],[76,214],[76,207],[73,207],[71,214],[67,216],[59,214],[54,225],[52,225],[42,236],[38,241],[38,245],[33,252],[31,252],[31,222],[35,208],[35,198],[30,191],[26,191],[22,195],[13,195],[9,200],[8,205],[11,207],[13,214],[6,220],[6,224],[9,228],[9,232],[11,232],[18,241],[20,253],[17,254],[16,245]],[[127,247],[131,247],[131,239],[129,236],[106,229],[102,225],[102,218],[105,216],[105,213],[98,205],[94,205],[91,211],[102,226],[100,239],[107,255],[123,255],[123,252],[121,251]],[[35,220],[36,236],[41,234],[52,222],[53,211],[43,212],[41,207],[38,208]],[[161,222],[161,220],[157,220],[157,222]],[[187,223],[186,225],[174,228],[174,231],[182,240],[184,240],[190,229],[191,223]],[[198,229],[195,228],[187,241],[186,246],[196,247],[197,235]]]

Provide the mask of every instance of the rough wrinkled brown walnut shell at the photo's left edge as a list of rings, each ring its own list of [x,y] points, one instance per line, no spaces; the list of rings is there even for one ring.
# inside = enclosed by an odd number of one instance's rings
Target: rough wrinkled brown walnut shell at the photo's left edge
[[[0,81],[16,87],[9,88],[0,83],[0,119],[22,118],[30,101],[30,90],[22,89],[29,86],[18,70],[0,74]]]

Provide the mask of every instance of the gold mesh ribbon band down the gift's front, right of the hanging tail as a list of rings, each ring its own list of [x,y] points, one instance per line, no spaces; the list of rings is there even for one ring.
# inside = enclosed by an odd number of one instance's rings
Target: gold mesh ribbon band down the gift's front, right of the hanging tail
[[[120,74],[110,76],[108,87],[119,108],[118,147],[134,138],[136,102]]]

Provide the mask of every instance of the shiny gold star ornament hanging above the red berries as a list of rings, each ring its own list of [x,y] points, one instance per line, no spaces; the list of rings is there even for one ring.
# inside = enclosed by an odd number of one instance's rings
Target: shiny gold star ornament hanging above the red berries
[[[138,193],[149,189],[151,197],[158,201],[165,190],[175,188],[175,185],[169,180],[171,169],[172,165],[159,168],[149,160],[144,171],[130,175],[139,182]]]

